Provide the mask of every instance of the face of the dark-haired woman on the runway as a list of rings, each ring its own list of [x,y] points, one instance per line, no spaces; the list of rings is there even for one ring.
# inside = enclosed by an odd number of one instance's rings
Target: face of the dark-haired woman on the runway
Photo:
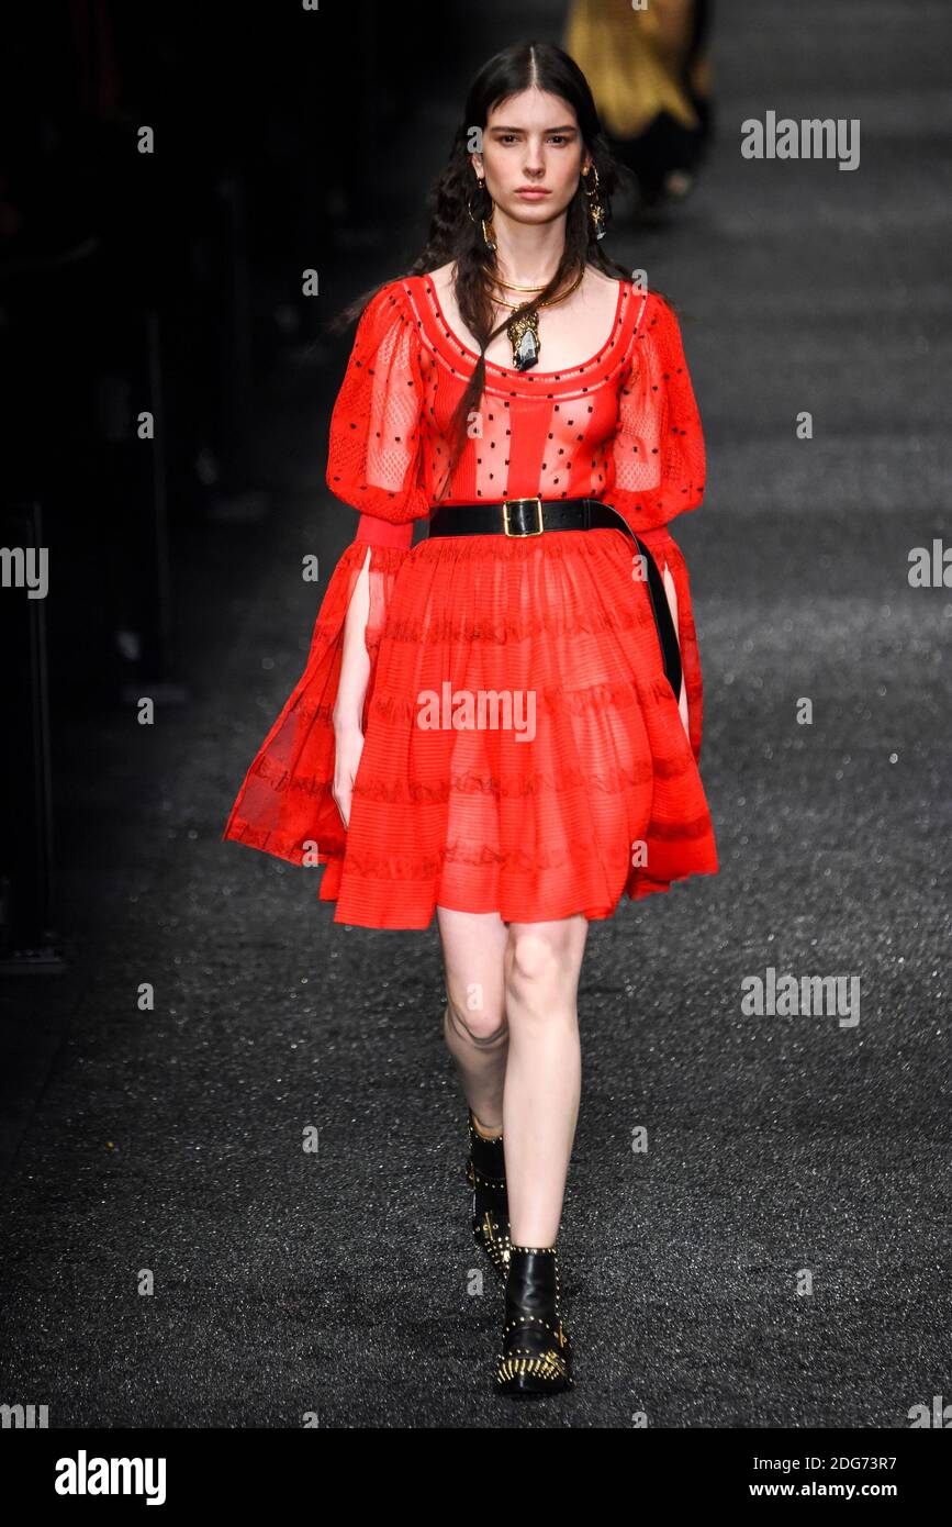
[[[564,212],[590,162],[575,111],[561,96],[522,90],[490,111],[482,153],[470,156],[496,206],[519,223]],[[529,195],[526,186],[540,192]]]

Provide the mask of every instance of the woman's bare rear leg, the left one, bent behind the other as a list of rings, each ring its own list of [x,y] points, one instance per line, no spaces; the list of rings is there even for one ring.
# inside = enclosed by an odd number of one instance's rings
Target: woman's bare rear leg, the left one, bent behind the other
[[[479,1133],[497,1136],[508,1051],[507,924],[496,912],[450,912],[447,907],[436,907],[436,921],[449,997],[442,1034]]]

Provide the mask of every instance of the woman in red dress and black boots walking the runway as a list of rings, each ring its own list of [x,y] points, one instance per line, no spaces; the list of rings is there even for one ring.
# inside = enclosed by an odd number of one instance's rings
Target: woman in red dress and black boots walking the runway
[[[430,241],[363,307],[326,472],[357,536],[223,834],[326,864],[336,922],[436,915],[505,1394],[574,1382],[555,1240],[587,925],[719,867],[667,530],[702,499],[700,418],[671,307],[601,253],[615,185],[566,53],[484,66]]]

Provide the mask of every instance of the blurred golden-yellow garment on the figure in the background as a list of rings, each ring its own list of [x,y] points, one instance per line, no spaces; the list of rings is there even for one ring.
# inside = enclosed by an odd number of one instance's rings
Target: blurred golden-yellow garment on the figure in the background
[[[638,137],[659,111],[685,127],[699,118],[680,84],[691,41],[691,0],[572,0],[564,50],[592,87],[615,137]]]

